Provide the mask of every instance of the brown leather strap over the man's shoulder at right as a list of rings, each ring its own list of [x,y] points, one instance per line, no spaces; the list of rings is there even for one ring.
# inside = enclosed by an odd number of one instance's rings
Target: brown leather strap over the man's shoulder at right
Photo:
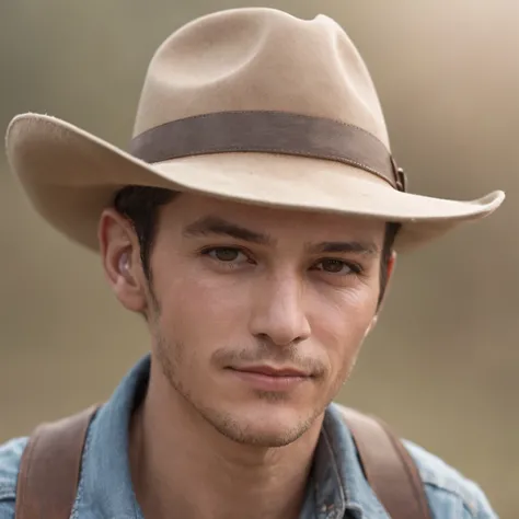
[[[381,420],[342,407],[368,483],[392,519],[431,519],[413,458]]]

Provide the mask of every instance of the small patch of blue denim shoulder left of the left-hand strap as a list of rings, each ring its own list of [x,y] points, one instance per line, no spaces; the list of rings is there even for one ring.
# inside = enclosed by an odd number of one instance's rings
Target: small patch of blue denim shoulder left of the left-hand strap
[[[20,460],[27,438],[15,438],[0,445],[0,519],[14,518]]]

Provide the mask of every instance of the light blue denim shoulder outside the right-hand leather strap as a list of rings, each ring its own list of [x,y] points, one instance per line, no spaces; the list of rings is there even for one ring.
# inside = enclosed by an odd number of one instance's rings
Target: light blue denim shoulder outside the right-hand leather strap
[[[424,482],[434,517],[497,519],[481,487],[443,460],[404,440]]]

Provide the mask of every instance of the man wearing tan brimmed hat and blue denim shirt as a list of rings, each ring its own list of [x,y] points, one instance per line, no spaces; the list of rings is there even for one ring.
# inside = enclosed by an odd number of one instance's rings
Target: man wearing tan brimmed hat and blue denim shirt
[[[151,354],[83,422],[77,487],[61,469],[79,428],[59,448],[24,438],[0,449],[0,519],[16,507],[41,517],[27,496],[42,488],[57,488],[59,503],[44,496],[53,517],[79,519],[390,517],[381,496],[400,489],[391,477],[370,486],[366,437],[332,401],[376,324],[395,251],[489,215],[504,194],[408,194],[389,150],[344,31],[270,9],[215,13],[164,42],[129,153],[18,116],[14,174],[48,222],[100,252],[118,301],[146,319]],[[404,450],[430,517],[496,517],[474,483]]]

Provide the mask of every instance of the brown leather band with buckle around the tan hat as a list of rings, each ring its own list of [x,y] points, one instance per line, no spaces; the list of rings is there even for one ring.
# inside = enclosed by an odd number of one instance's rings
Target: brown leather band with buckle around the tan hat
[[[405,191],[403,171],[373,135],[337,120],[285,112],[218,112],[173,120],[135,137],[129,151],[149,163],[237,151],[326,159]]]

